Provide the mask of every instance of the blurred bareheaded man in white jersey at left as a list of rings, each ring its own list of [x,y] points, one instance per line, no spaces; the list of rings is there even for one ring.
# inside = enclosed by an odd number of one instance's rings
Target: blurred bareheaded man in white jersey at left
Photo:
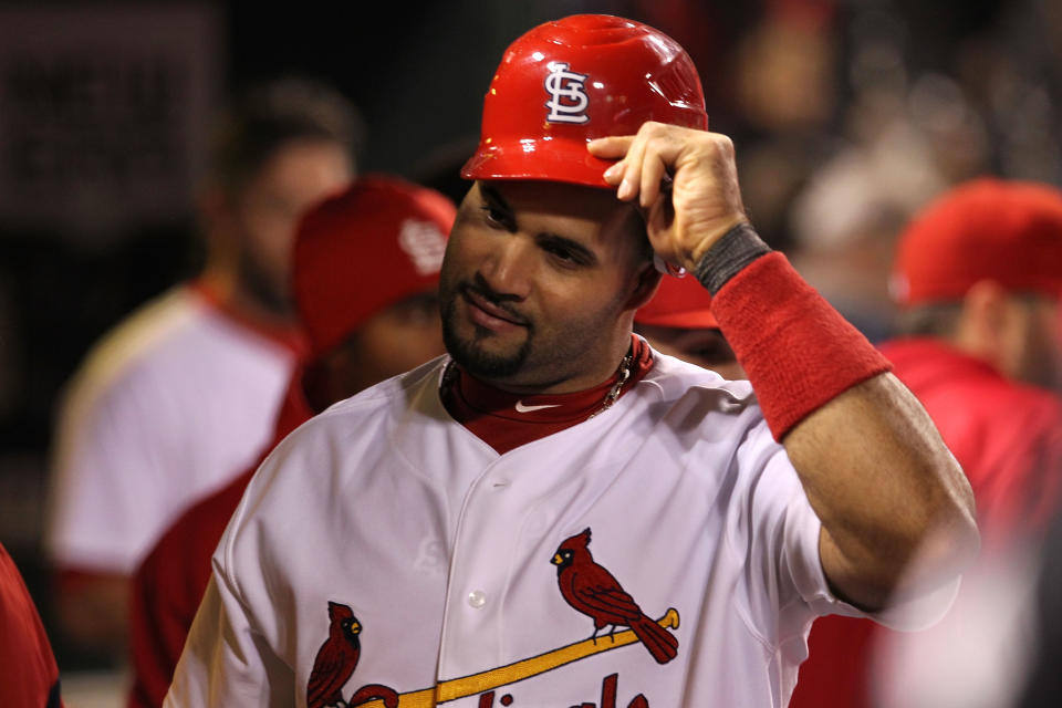
[[[69,384],[46,546],[70,644],[122,656],[144,554],[269,441],[303,347],[287,283],[295,222],[348,184],[357,133],[325,86],[282,80],[233,102],[199,194],[201,274],[108,333]]]

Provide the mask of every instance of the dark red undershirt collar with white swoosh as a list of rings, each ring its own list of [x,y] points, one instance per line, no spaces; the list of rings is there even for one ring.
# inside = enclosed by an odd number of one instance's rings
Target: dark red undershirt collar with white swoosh
[[[632,335],[631,376],[620,389],[629,391],[653,368],[653,352]],[[618,379],[618,372],[593,388],[570,394],[520,395],[501,391],[464,373],[444,386],[442,404],[455,420],[499,454],[582,423],[597,413]]]

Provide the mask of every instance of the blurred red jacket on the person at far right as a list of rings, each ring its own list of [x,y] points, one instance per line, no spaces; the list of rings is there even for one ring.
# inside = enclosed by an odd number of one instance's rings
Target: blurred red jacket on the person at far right
[[[970,480],[982,550],[1043,531],[1062,486],[1062,399],[935,340],[898,340],[881,350]],[[885,632],[867,620],[816,620],[790,708],[870,706],[870,653]]]

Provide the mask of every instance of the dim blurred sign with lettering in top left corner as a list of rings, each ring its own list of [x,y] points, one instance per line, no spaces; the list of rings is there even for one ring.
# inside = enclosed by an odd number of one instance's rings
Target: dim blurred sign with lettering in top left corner
[[[0,8],[0,230],[102,241],[186,215],[220,28],[205,6]]]

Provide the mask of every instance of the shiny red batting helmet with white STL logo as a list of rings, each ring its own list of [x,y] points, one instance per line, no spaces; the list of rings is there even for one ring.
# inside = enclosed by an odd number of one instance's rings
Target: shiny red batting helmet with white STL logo
[[[675,40],[605,14],[546,22],[506,50],[461,176],[608,187],[612,163],[586,143],[634,135],[646,121],[708,129],[700,79]]]

